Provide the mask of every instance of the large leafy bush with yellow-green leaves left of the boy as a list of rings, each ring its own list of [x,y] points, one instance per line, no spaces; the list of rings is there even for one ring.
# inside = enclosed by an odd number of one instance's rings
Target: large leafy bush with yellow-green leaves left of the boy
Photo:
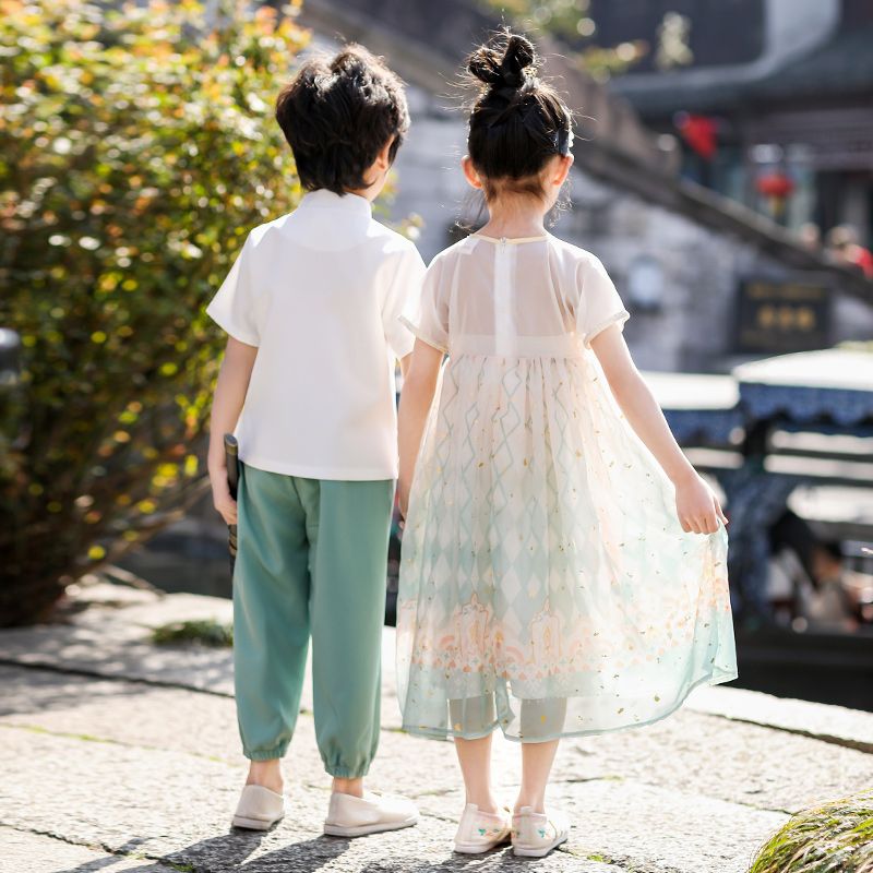
[[[203,314],[300,196],[272,104],[294,9],[0,0],[0,624],[33,621],[202,490],[223,336]]]

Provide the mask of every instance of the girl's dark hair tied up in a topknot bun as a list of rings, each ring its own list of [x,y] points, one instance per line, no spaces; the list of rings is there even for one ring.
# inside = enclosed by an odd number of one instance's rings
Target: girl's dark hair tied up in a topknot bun
[[[539,172],[550,157],[567,154],[572,145],[572,112],[537,79],[536,69],[530,40],[509,31],[467,58],[479,87],[467,153],[482,177],[487,200],[502,191],[542,196]]]

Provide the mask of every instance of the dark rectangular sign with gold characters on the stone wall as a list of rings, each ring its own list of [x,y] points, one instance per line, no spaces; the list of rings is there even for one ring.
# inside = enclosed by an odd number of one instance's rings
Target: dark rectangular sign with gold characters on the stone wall
[[[823,282],[746,279],[737,298],[737,351],[782,354],[825,348],[830,291]]]

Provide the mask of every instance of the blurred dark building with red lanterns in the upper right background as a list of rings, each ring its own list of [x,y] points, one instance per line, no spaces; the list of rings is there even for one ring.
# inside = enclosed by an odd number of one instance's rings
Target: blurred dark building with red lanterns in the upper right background
[[[779,223],[873,244],[870,0],[593,0],[601,45],[642,41],[610,88],[685,141],[685,175]],[[683,19],[687,51],[656,47]],[[774,195],[784,191],[784,195]]]

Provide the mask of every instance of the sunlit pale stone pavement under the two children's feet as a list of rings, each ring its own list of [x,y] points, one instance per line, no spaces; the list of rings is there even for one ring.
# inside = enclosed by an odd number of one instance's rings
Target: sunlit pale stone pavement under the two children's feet
[[[0,632],[0,872],[744,873],[791,812],[873,782],[873,714],[706,689],[657,725],[562,743],[550,797],[574,827],[560,851],[454,856],[453,750],[399,731],[386,631],[370,785],[415,797],[420,825],[321,835],[328,780],[307,698],[286,760],[288,817],[268,834],[232,832],[246,767],[230,654],[148,642],[166,621],[229,610],[94,585],[74,595],[65,623]],[[509,802],[517,746],[495,746]]]

